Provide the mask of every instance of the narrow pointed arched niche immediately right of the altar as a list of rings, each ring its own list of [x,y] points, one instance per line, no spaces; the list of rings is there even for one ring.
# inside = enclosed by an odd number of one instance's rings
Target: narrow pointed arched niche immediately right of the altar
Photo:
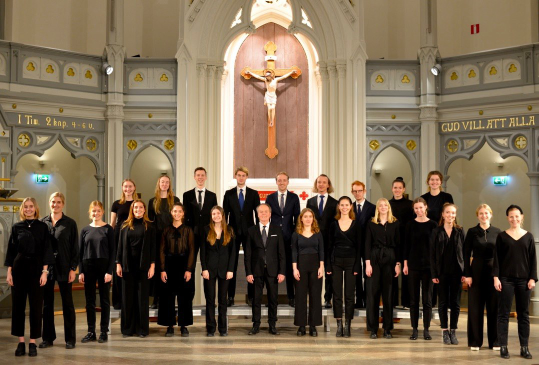
[[[413,199],[413,175],[407,157],[393,146],[389,146],[378,153],[372,163],[370,171],[370,184],[367,182],[369,201],[375,203],[379,198],[391,199],[393,193],[391,186],[393,180],[402,177],[406,184],[406,193]]]

